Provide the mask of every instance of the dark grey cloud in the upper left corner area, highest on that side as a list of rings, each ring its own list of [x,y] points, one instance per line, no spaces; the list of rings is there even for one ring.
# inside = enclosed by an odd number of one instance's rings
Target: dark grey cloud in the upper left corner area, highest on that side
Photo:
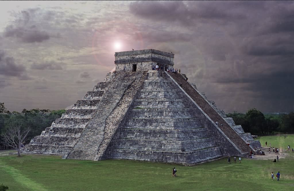
[[[38,19],[36,13],[39,9],[28,9],[21,11],[18,19],[4,30],[4,37],[14,37],[24,43],[43,42],[48,40],[50,35],[40,29],[40,25],[36,24]]]

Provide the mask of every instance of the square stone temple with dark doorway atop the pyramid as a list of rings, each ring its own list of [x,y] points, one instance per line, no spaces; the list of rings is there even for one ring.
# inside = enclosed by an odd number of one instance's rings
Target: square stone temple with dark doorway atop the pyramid
[[[173,68],[173,53],[167,53],[154,49],[132,50],[124,52],[116,52],[115,68],[116,71],[148,71],[152,66],[158,65],[161,70]]]

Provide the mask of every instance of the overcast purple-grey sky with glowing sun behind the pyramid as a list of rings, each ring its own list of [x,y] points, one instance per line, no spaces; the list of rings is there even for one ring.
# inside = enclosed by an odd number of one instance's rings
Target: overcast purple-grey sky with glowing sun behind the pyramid
[[[225,112],[290,112],[293,34],[293,1],[0,1],[0,102],[64,109],[152,48]]]

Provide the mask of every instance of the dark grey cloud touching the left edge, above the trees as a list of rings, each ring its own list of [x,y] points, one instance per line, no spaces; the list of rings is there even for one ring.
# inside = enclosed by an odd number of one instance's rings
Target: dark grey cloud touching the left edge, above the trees
[[[16,64],[14,58],[5,56],[0,50],[0,75],[22,77],[25,72],[24,65]]]

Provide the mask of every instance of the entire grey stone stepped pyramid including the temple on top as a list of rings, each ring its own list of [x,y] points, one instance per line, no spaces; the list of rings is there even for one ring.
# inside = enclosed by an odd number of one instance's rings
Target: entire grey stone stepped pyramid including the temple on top
[[[108,73],[22,152],[193,165],[246,156],[260,147],[186,75],[167,72],[174,67],[173,58],[154,49],[116,52],[116,72]],[[152,70],[156,65],[159,70]]]

